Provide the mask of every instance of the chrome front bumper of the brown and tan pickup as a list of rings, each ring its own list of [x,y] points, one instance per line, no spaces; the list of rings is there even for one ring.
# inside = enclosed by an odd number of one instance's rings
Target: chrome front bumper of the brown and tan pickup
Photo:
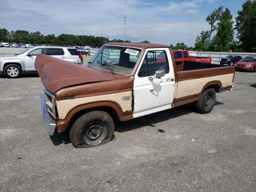
[[[41,98],[41,110],[42,110],[42,120],[43,120],[44,128],[49,135],[53,135],[55,128],[57,127],[56,122],[52,120],[51,116],[47,111],[44,93],[40,94],[40,98]]]

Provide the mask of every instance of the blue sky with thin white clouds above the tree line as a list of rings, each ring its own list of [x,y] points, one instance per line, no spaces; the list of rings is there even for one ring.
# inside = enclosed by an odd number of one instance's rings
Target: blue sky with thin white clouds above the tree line
[[[229,8],[233,19],[246,0],[0,0],[0,28],[41,34],[104,36],[110,40],[194,46],[206,16]],[[234,20],[235,21],[235,20]]]

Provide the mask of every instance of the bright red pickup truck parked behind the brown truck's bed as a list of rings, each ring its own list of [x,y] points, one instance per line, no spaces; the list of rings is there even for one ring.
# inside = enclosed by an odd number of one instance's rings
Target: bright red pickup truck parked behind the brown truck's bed
[[[203,63],[212,63],[211,57],[203,56],[190,56],[188,51],[185,50],[175,50],[173,51],[175,60],[186,60],[186,61],[195,61]]]

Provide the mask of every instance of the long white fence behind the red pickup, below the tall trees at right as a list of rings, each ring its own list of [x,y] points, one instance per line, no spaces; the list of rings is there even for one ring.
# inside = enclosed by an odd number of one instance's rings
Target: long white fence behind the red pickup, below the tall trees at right
[[[229,53],[229,52],[197,52],[197,51],[189,51],[190,56],[205,56],[211,57],[213,61],[219,62],[221,58],[224,58],[228,55],[238,55],[244,58],[249,55],[256,55],[256,53]]]

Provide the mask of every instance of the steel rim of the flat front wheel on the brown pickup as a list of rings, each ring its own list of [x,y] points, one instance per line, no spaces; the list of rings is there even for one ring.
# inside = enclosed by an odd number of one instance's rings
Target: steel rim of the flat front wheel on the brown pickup
[[[103,122],[96,121],[88,124],[83,132],[84,142],[88,145],[96,145],[104,140],[107,128]]]

